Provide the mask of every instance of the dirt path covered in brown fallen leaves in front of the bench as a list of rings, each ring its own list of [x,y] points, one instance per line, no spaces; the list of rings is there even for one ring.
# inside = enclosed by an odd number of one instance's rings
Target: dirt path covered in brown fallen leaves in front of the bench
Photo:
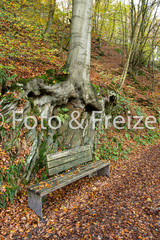
[[[130,159],[113,162],[110,179],[84,178],[52,193],[43,222],[24,196],[1,212],[1,234],[7,239],[158,240],[159,173],[160,145],[143,147]]]

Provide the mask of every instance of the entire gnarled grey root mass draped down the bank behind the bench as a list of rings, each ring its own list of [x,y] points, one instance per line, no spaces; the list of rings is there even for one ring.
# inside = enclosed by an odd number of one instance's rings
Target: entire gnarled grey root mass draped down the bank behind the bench
[[[14,146],[17,154],[11,156],[13,158],[17,158],[25,147],[29,149],[24,157],[23,177],[27,181],[29,181],[36,164],[40,167],[45,166],[45,158],[50,151],[56,152],[62,147],[70,149],[85,144],[90,144],[92,147],[95,145],[97,142],[96,131],[89,124],[91,113],[93,110],[104,112],[110,98],[105,99],[102,104],[97,99],[96,92],[91,85],[84,86],[83,82],[76,85],[69,80],[51,86],[45,84],[42,79],[35,78],[19,87],[22,89],[21,94],[12,100],[7,97],[3,98],[0,101],[0,108],[8,125],[12,126],[13,124],[13,111],[23,112],[16,116],[21,121],[16,121],[16,129],[13,130],[10,127],[7,134],[2,134],[3,131],[1,131],[0,138],[5,144],[5,148],[12,149]],[[62,110],[64,106],[68,109],[67,113]],[[82,128],[77,130],[69,127],[73,111],[80,113],[78,121],[83,122]],[[28,116],[36,118],[38,116],[47,118],[60,116],[63,124],[59,129],[38,126],[26,130],[24,123]],[[54,125],[56,122],[53,120],[52,124]]]

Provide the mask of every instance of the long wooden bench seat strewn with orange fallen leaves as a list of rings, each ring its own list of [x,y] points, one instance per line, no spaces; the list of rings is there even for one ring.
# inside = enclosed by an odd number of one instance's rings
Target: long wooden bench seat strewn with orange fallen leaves
[[[81,168],[79,168],[80,170],[79,172],[78,172],[78,169],[71,170],[71,172],[65,173],[64,176],[61,176],[58,178],[54,177],[50,179],[50,181],[46,180],[46,181],[40,182],[38,184],[30,186],[28,189],[43,197],[50,192],[53,192],[76,180],[79,180],[85,176],[88,176],[89,174],[108,165],[109,163],[104,163],[100,160],[96,162],[88,163],[87,165],[84,165]]]

